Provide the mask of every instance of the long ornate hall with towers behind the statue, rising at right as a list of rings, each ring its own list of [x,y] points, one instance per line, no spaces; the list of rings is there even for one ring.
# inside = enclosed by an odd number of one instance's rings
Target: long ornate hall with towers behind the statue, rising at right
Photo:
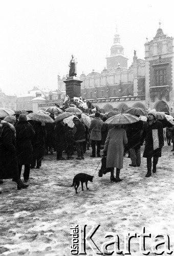
[[[111,55],[106,57],[106,68],[81,74],[81,96],[103,111],[124,110],[139,106],[168,112],[173,108],[173,37],[165,35],[160,27],[151,41],[145,42],[145,59],[134,51],[132,65],[127,58],[116,30]],[[58,88],[66,90],[63,77]]]

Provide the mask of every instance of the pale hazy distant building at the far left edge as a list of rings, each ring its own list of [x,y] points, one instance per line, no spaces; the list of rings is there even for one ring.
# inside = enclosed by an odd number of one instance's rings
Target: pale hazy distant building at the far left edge
[[[16,110],[16,96],[9,96],[2,92],[0,88],[0,108]]]

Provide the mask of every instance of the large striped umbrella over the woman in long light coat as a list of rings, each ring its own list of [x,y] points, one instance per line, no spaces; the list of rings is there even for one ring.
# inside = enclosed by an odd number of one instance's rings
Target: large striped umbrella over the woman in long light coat
[[[127,124],[127,123],[135,123],[140,121],[140,118],[131,114],[118,114],[116,116],[112,116],[108,118],[105,123],[108,124]]]

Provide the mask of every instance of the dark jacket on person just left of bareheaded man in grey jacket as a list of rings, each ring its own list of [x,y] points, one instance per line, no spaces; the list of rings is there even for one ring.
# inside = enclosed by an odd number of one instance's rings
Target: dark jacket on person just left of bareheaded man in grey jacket
[[[75,142],[85,141],[85,127],[80,120],[78,120],[73,127],[73,134]]]

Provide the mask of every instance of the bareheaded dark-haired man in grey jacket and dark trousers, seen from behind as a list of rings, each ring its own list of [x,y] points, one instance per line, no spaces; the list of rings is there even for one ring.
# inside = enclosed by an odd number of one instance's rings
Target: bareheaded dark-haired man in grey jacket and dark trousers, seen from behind
[[[100,119],[100,113],[95,113],[95,118],[91,121],[90,130],[91,130],[91,147],[92,155],[90,157],[96,156],[96,144],[97,144],[97,157],[100,157],[100,144],[101,144],[101,127],[103,121]]]

